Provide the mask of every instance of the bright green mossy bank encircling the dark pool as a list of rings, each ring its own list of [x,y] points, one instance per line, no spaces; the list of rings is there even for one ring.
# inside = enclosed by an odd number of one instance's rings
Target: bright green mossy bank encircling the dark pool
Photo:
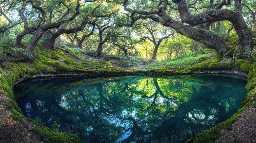
[[[5,102],[12,112],[12,118],[18,121],[25,118],[18,108],[17,104],[13,101],[12,87],[18,80],[24,79],[31,76],[40,76],[44,74],[189,74],[195,73],[203,70],[216,70],[216,69],[235,69],[240,70],[248,74],[248,83],[246,86],[246,98],[242,104],[242,109],[238,111],[243,111],[248,105],[251,105],[255,100],[252,93],[255,91],[255,79],[256,79],[256,63],[251,63],[249,61],[243,60],[220,60],[216,58],[208,59],[207,61],[200,61],[191,67],[176,67],[173,68],[172,65],[164,64],[160,68],[152,67],[150,69],[144,70],[124,70],[111,66],[110,63],[106,61],[90,61],[85,60],[85,57],[78,56],[69,50],[51,50],[45,49],[38,46],[35,51],[34,58],[28,63],[23,62],[9,62],[2,65],[0,68],[0,94],[4,94],[9,98],[9,102]],[[236,113],[234,116],[230,117],[224,123],[210,129],[206,130],[197,136],[190,138],[187,142],[212,142],[220,136],[220,130],[230,130],[232,123],[237,119]],[[32,119],[28,119],[33,122]],[[26,123],[24,123],[26,124]],[[48,128],[41,128],[37,123],[36,127],[31,129],[34,133],[40,136],[41,140],[44,142],[80,142],[77,136],[72,134],[63,134],[55,132]]]

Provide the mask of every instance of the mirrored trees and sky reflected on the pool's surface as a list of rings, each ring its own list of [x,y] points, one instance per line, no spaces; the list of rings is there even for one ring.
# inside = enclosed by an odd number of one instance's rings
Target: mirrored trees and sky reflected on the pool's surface
[[[83,129],[78,127],[73,133],[78,134],[82,140],[91,142],[116,141],[123,134],[127,136],[124,142],[152,141],[159,136],[188,132],[224,118],[226,105],[220,103],[230,103],[230,108],[239,103],[231,103],[225,96],[212,98],[219,96],[214,95],[214,84],[220,84],[219,80],[207,83],[207,80],[187,78],[184,81],[179,77],[101,80],[104,82],[95,84],[92,84],[94,80],[91,79],[90,82],[81,81],[82,84],[76,81],[74,88],[65,90],[64,87],[67,88],[72,83],[56,85],[53,81],[49,84],[55,85],[51,87],[55,89],[52,92],[46,87],[40,87],[43,84],[38,84],[37,89],[47,92],[35,95],[40,91],[35,88],[31,92],[24,90],[30,94],[22,96],[17,102],[25,116],[38,116],[49,127],[54,121],[60,128],[89,121],[89,126]],[[219,88],[224,91],[236,89],[232,86]],[[53,95],[59,90],[62,93]],[[106,121],[98,126],[90,124],[98,118]]]

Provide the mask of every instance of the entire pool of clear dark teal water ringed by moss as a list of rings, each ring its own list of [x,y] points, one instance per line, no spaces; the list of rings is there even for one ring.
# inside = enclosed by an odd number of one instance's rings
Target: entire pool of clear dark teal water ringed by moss
[[[222,75],[52,78],[19,84],[22,113],[82,142],[185,142],[232,116],[246,81]]]

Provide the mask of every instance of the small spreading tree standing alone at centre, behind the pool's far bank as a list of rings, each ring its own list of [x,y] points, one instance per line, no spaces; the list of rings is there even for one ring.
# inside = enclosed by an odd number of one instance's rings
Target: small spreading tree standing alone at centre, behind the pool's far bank
[[[164,39],[169,38],[170,36],[173,36],[174,34],[174,32],[168,34],[170,32],[168,31],[170,28],[160,27],[158,23],[152,22],[152,21],[148,21],[147,23],[137,24],[135,28],[140,33],[139,35],[141,37],[140,38],[141,41],[145,41],[146,39],[148,39],[154,44],[152,60],[157,59],[157,52],[161,42]],[[152,38],[150,38],[148,34],[144,32],[145,30],[147,30],[150,33],[150,36]],[[157,35],[161,35],[161,38]]]

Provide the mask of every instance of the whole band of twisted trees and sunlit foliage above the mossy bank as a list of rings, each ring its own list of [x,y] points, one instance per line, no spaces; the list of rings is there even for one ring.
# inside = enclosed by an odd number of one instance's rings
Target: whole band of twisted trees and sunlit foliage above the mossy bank
[[[168,59],[204,48],[251,57],[255,15],[254,0],[1,0],[0,44],[24,48],[28,59],[38,44],[78,47],[95,57]],[[229,46],[232,36],[239,46]]]

